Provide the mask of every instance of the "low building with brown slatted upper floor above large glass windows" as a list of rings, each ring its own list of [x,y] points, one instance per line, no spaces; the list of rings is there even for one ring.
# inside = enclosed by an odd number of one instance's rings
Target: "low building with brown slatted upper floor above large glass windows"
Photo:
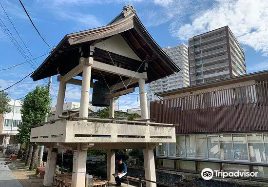
[[[250,171],[258,175],[240,179],[268,181],[268,71],[157,95],[163,100],[151,102],[151,118],[178,125],[176,143],[156,149],[156,168]]]

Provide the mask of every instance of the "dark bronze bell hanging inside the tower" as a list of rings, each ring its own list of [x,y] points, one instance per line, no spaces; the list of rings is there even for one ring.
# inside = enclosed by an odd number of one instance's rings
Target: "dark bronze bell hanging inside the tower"
[[[92,105],[109,106],[110,100],[105,98],[109,93],[110,90],[104,81],[96,81],[93,86]]]

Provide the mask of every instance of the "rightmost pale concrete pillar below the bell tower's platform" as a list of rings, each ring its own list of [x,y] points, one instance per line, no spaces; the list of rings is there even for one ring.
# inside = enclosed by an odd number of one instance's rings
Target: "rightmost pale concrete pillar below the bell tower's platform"
[[[143,149],[145,179],[156,181],[153,149]],[[146,182],[146,187],[156,187],[155,183]]]

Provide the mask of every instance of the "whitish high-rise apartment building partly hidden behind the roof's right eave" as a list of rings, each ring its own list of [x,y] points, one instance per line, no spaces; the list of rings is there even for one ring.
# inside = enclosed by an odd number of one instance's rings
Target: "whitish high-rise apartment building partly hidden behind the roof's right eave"
[[[172,90],[190,85],[189,64],[188,64],[188,46],[184,43],[175,47],[165,47],[164,51],[169,55],[173,62],[181,69],[180,72],[172,74],[153,81],[148,84],[148,95],[166,90]]]

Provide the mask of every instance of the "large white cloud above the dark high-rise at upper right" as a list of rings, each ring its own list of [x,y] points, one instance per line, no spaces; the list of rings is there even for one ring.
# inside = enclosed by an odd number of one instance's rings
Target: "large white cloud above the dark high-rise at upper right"
[[[174,21],[170,31],[173,37],[186,41],[209,28],[226,25],[239,42],[268,56],[268,0],[217,0],[191,23],[180,25]]]

